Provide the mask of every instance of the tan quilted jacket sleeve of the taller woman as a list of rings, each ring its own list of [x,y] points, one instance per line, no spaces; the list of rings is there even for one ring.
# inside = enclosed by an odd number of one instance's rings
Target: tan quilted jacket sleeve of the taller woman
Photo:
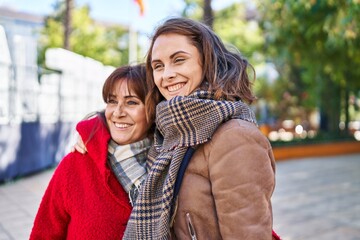
[[[236,121],[213,136],[209,177],[222,239],[271,239],[275,165],[255,125]]]

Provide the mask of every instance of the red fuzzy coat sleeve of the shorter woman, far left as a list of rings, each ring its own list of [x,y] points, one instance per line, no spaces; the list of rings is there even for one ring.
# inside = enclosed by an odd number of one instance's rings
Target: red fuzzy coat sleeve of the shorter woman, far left
[[[67,213],[66,162],[70,156],[65,157],[58,165],[40,203],[30,240],[35,239],[66,239],[67,226],[70,216]]]

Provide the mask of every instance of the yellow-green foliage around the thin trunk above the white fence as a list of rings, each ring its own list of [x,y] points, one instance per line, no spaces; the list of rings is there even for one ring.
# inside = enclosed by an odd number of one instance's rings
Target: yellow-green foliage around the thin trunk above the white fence
[[[53,14],[45,21],[40,38],[40,65],[44,64],[46,49],[63,47],[64,6],[64,2],[58,3]],[[90,17],[89,7],[82,6],[72,10],[71,28],[71,51],[98,60],[105,65],[119,66],[128,62],[128,46],[121,48],[119,44],[127,37],[127,29],[124,27],[95,22]]]

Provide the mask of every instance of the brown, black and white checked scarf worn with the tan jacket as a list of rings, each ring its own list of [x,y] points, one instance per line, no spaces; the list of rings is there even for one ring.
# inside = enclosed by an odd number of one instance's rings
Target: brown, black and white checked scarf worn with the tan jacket
[[[243,102],[213,99],[211,93],[199,90],[158,104],[158,129],[148,154],[149,174],[124,239],[169,239],[174,185],[187,148],[209,141],[218,126],[231,118],[256,124],[254,113]]]

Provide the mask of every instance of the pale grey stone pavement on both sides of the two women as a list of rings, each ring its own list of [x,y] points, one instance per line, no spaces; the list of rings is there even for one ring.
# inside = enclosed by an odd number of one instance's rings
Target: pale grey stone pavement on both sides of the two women
[[[28,239],[53,169],[0,185],[0,240]],[[360,240],[360,154],[277,162],[274,229],[284,240]]]

